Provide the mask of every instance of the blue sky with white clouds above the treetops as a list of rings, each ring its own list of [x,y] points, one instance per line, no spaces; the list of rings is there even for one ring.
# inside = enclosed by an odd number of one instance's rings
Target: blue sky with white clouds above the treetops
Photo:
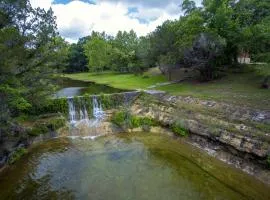
[[[182,0],[30,0],[33,7],[52,7],[58,31],[75,43],[92,31],[116,35],[133,29],[147,35],[166,20],[178,19]],[[195,0],[197,4],[201,0]]]

